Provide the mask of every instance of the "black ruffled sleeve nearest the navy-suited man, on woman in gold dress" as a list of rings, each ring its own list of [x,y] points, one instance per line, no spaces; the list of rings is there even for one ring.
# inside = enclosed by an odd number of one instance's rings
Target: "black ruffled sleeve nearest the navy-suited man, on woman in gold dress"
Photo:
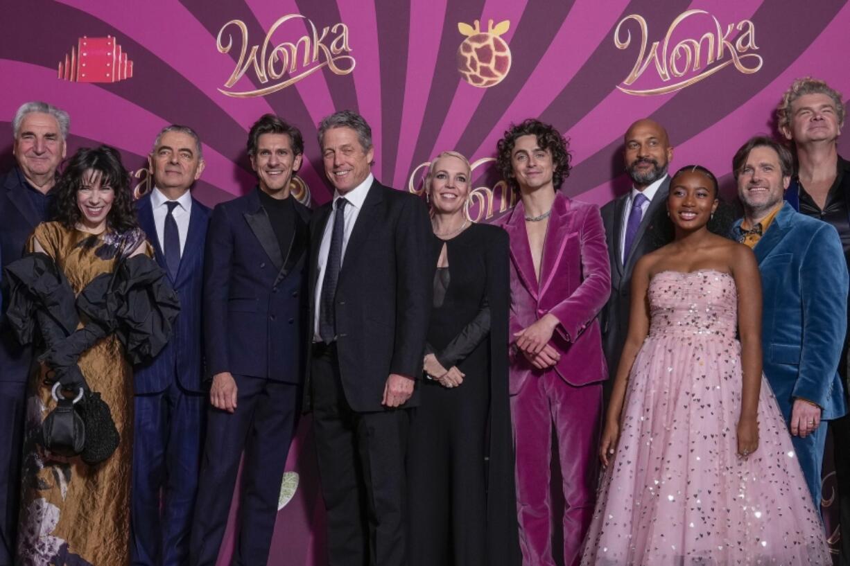
[[[122,261],[114,278],[104,275],[82,290],[77,308],[94,323],[115,330],[130,363],[152,359],[167,344],[180,312],[165,271],[139,254]]]

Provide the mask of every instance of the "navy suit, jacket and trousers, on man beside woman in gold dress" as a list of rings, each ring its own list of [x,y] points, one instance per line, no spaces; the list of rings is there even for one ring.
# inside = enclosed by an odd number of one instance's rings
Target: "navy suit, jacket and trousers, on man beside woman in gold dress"
[[[168,271],[150,195],[136,203],[139,224]],[[204,416],[201,292],[210,209],[194,198],[180,266],[171,280],[180,314],[166,347],[133,373],[133,566],[180,566],[189,558]],[[171,278],[172,276],[169,275]]]

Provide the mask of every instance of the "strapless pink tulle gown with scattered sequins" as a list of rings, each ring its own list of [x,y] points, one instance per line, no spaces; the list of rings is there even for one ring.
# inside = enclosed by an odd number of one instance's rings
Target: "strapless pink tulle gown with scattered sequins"
[[[582,564],[830,563],[763,377],[758,450],[737,456],[737,301],[732,276],[713,270],[664,271],[650,281],[649,336],[632,366]]]

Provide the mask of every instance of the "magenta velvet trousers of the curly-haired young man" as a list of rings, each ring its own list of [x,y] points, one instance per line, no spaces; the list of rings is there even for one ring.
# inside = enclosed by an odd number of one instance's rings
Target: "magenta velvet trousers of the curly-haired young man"
[[[527,376],[511,397],[516,445],[519,546],[524,566],[555,566],[550,491],[552,433],[564,492],[564,565],[578,564],[598,482],[602,385],[574,387],[555,371]]]

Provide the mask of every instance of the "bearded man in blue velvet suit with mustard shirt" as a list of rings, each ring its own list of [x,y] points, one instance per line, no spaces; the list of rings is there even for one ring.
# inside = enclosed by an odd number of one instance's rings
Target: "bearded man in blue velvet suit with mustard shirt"
[[[764,374],[791,430],[796,457],[816,507],[826,425],[847,412],[838,364],[847,328],[847,264],[830,224],[783,200],[791,153],[773,139],[750,139],[732,171],[744,218],[739,241],[756,253],[762,274]]]

